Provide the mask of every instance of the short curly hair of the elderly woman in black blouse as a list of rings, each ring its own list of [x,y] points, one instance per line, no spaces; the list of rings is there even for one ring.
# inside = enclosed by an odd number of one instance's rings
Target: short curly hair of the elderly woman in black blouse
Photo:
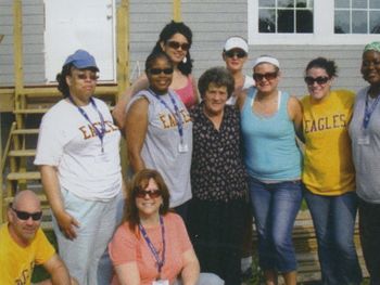
[[[211,83],[214,83],[217,87],[225,86],[227,88],[228,98],[231,96],[235,90],[235,79],[225,67],[212,67],[201,75],[200,79],[198,80],[198,89],[202,99],[204,99]]]

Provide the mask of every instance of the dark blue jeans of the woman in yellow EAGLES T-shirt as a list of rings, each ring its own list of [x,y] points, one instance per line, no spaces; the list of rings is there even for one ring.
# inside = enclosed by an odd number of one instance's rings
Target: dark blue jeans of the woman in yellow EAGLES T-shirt
[[[356,193],[321,196],[306,190],[305,198],[317,235],[322,284],[360,284],[362,270],[354,244]]]

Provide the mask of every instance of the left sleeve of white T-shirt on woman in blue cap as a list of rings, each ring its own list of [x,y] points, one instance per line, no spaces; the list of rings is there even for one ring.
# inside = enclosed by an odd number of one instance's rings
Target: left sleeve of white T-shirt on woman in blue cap
[[[54,124],[53,117],[45,117],[39,128],[35,165],[58,166],[63,154],[64,144],[64,133]]]

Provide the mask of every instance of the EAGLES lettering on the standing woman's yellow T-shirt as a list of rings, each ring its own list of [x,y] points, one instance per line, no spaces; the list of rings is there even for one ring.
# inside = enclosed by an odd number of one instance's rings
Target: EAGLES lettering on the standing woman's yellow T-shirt
[[[341,129],[347,126],[346,114],[334,114],[317,119],[304,118],[305,133],[317,132],[330,129]]]

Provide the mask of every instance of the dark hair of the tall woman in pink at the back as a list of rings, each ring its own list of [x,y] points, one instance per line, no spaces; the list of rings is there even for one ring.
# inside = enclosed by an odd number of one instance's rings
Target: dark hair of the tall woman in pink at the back
[[[191,47],[191,43],[192,43],[191,29],[187,25],[185,25],[182,22],[172,21],[162,29],[162,31],[160,34],[160,38],[159,38],[157,42],[155,43],[155,46],[152,50],[152,53],[160,52],[160,51],[163,52],[160,43],[163,42],[164,44],[166,44],[166,42],[169,39],[172,39],[172,37],[175,34],[181,34],[188,40],[189,46]],[[192,70],[192,60],[191,60],[191,55],[190,55],[190,49],[188,50],[186,57],[187,57],[186,63],[183,63],[183,62],[179,63],[178,69],[183,75],[189,75],[189,74],[191,74],[191,70]]]

